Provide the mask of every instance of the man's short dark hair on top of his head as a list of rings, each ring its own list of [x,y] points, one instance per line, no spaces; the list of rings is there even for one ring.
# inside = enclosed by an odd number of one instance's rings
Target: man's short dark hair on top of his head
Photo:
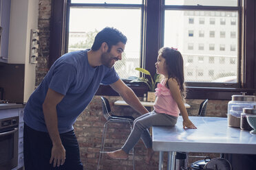
[[[100,49],[100,46],[103,44],[103,42],[107,43],[109,46],[108,51],[110,51],[112,45],[116,45],[118,42],[126,44],[127,38],[118,29],[114,27],[105,27],[95,36],[94,44],[92,45],[92,51]]]

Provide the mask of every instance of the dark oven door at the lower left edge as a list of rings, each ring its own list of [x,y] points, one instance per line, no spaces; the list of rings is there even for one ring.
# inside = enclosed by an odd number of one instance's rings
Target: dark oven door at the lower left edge
[[[18,127],[0,132],[0,169],[10,170],[18,164]]]

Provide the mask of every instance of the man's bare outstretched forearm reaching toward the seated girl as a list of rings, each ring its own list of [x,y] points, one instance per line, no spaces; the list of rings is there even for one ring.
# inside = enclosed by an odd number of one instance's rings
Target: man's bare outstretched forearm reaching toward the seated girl
[[[125,102],[131,106],[131,108],[134,108],[134,110],[136,110],[140,114],[145,114],[149,112],[144,106],[142,106],[134,91],[126,86],[126,84],[122,82],[122,80],[119,79],[117,82],[110,84],[110,86],[117,93],[119,93],[122,99],[124,99]]]

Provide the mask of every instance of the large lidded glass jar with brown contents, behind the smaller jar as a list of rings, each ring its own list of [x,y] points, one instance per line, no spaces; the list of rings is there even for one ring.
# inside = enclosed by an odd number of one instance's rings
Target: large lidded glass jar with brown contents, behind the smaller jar
[[[232,95],[232,100],[228,102],[228,126],[240,127],[243,108],[253,106],[256,106],[254,95]]]

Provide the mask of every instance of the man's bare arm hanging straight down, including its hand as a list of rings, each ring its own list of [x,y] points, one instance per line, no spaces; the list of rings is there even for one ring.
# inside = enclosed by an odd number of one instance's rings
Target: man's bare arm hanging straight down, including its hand
[[[63,165],[65,162],[65,148],[61,143],[61,137],[58,132],[58,118],[56,106],[63,99],[64,95],[57,93],[52,89],[48,89],[45,101],[43,102],[43,114],[45,124],[52,140],[52,154],[50,164],[54,160],[53,166]]]

